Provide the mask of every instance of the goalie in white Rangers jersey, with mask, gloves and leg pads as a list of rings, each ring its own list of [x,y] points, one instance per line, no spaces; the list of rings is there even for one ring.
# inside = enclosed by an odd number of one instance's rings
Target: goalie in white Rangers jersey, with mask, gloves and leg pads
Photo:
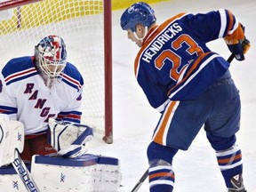
[[[64,40],[45,36],[34,49],[0,73],[1,191],[116,191],[118,159],[86,153],[84,79]]]

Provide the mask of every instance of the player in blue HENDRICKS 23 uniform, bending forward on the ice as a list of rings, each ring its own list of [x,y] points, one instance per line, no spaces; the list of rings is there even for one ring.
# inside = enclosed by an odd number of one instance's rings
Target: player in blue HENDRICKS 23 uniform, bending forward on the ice
[[[172,191],[172,159],[179,149],[188,149],[204,125],[228,191],[244,192],[236,145],[239,92],[228,61],[206,46],[224,38],[236,60],[244,60],[250,43],[236,16],[225,9],[183,12],[157,25],[154,10],[140,2],[124,11],[121,28],[140,47],[135,76],[150,105],[162,114],[148,146],[150,191]]]

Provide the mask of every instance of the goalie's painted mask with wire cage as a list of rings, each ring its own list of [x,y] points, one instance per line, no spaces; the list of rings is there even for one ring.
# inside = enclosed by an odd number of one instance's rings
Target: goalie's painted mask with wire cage
[[[60,36],[46,36],[35,46],[36,67],[44,80],[60,76],[67,64],[66,45]],[[43,73],[42,73],[43,72]]]

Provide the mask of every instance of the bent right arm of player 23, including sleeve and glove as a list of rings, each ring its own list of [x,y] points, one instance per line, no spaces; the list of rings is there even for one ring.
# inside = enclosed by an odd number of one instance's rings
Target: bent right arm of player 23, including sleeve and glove
[[[232,12],[220,9],[204,14],[189,14],[183,21],[189,26],[190,33],[204,43],[224,38],[236,60],[244,60],[250,42],[244,36],[244,27]]]

